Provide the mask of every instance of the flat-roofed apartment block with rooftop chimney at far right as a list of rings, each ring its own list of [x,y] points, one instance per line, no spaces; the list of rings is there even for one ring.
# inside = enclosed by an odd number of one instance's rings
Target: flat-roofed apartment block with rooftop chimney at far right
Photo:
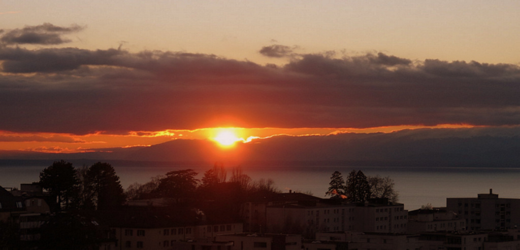
[[[446,209],[458,213],[472,231],[520,226],[520,199],[498,198],[491,189],[477,198],[447,198]]]

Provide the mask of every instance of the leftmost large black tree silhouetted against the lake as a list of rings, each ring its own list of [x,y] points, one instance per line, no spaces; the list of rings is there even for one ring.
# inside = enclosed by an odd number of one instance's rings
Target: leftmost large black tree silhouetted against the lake
[[[40,173],[40,186],[57,198],[58,206],[69,209],[77,204],[80,181],[72,163],[63,160],[43,169]]]

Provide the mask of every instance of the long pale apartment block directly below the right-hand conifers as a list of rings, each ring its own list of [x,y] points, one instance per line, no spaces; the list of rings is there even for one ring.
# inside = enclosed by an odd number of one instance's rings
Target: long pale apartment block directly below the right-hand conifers
[[[266,218],[269,233],[301,233],[312,239],[317,232],[328,231],[406,233],[408,210],[387,199],[301,201],[269,206]]]

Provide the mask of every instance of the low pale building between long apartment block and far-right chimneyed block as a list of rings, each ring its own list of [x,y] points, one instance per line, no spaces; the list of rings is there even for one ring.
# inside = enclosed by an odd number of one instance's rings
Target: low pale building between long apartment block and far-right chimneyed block
[[[433,231],[461,231],[466,220],[445,209],[417,209],[408,212],[408,233]]]

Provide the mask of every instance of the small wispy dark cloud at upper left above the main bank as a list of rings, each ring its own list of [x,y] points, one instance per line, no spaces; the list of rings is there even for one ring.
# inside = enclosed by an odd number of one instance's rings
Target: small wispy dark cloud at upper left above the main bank
[[[40,45],[56,45],[71,42],[67,38],[63,38],[63,34],[79,32],[84,27],[73,24],[70,27],[59,27],[50,23],[44,23],[36,26],[26,26],[22,29],[14,29],[5,32],[0,37],[0,42],[5,45],[13,44],[40,44]]]

